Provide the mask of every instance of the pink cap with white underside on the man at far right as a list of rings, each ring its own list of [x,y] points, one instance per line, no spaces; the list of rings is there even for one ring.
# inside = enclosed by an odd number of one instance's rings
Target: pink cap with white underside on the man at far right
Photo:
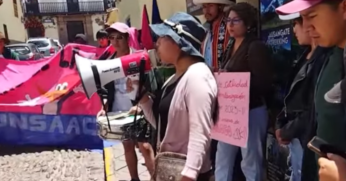
[[[293,0],[289,3],[280,6],[279,8],[276,8],[275,11],[279,15],[292,14],[315,6],[321,1],[323,0]]]

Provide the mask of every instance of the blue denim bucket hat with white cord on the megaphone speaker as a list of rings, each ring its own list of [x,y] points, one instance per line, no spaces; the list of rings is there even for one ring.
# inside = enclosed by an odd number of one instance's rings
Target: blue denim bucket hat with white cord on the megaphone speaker
[[[199,49],[206,36],[206,30],[193,16],[177,12],[161,24],[150,25],[150,28],[156,38],[170,36],[182,51],[204,59]]]

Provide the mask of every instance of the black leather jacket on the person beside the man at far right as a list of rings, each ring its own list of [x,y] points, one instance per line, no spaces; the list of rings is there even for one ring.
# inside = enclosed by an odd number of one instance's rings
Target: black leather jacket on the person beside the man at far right
[[[275,130],[281,129],[283,140],[291,141],[298,138],[302,146],[306,147],[316,134],[314,91],[317,77],[324,61],[330,55],[329,52],[330,48],[317,47],[310,60],[306,60],[307,52],[299,58],[299,61],[306,63],[295,75],[290,91],[284,99],[284,108],[277,116],[275,125]]]

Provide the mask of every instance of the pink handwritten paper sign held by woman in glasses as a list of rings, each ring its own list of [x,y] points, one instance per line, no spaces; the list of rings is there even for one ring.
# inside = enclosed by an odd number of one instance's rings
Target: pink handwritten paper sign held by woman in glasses
[[[246,147],[249,133],[249,72],[216,73],[219,119],[211,130],[213,139]]]

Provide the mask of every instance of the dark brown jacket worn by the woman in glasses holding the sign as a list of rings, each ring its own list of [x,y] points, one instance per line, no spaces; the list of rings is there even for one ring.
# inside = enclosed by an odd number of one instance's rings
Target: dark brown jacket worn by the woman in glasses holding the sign
[[[258,38],[248,35],[234,55],[234,40],[231,39],[222,58],[221,69],[227,72],[251,72],[250,109],[265,104],[273,83],[273,69],[268,47]]]

